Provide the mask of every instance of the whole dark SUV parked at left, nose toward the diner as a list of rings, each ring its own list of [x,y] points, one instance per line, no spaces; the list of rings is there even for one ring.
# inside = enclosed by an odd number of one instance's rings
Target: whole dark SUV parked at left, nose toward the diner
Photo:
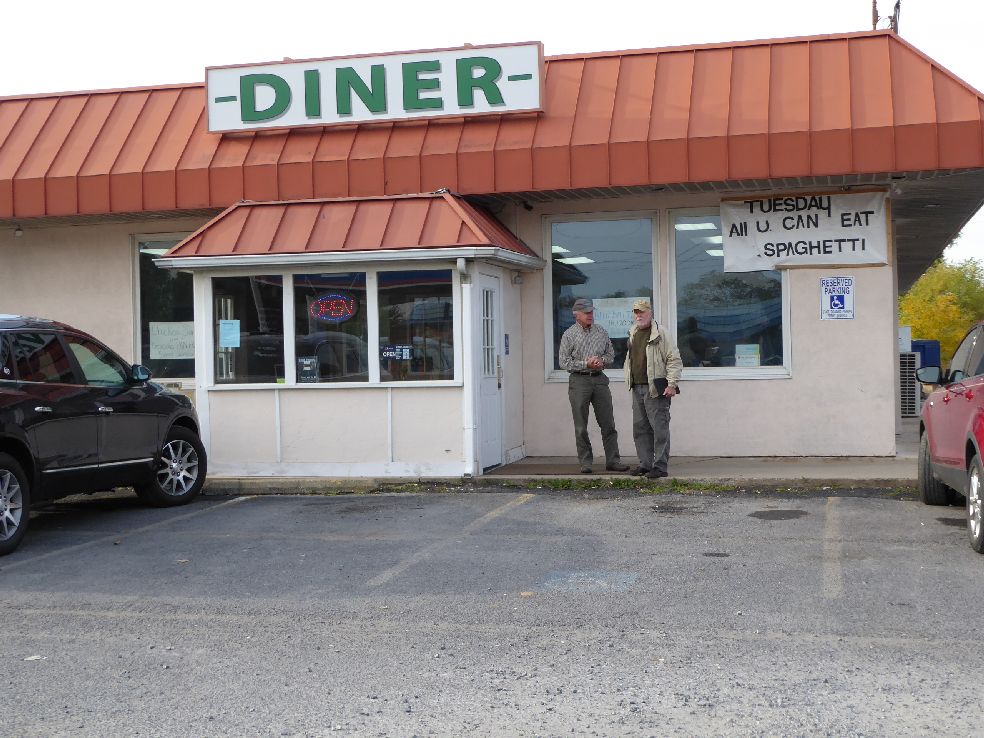
[[[0,315],[0,555],[44,500],[128,486],[160,507],[198,495],[195,408],[149,380],[82,331]]]

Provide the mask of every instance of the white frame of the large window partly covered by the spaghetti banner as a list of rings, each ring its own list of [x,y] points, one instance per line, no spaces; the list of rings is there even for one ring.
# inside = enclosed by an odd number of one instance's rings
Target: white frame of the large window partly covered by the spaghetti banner
[[[667,319],[662,322],[673,337],[674,345],[677,344],[677,280],[676,280],[676,228],[674,227],[678,216],[702,216],[716,215],[720,217],[720,207],[703,208],[669,208],[666,211],[666,243],[667,243],[667,269],[669,279],[667,280],[667,294],[669,297],[669,309]],[[787,269],[777,270],[780,274],[780,286],[782,289],[782,364],[779,366],[715,366],[715,367],[696,367],[689,366],[683,368],[681,379],[691,381],[707,381],[721,379],[789,379],[792,377],[792,342],[790,336],[790,305],[791,295],[789,286],[789,273]],[[654,305],[655,307],[655,305]]]

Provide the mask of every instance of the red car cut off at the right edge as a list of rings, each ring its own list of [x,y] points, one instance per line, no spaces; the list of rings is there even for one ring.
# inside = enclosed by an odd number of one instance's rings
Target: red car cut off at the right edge
[[[927,505],[965,497],[970,545],[984,553],[984,322],[964,336],[946,372],[924,366],[916,378],[933,385],[919,423],[919,496]]]

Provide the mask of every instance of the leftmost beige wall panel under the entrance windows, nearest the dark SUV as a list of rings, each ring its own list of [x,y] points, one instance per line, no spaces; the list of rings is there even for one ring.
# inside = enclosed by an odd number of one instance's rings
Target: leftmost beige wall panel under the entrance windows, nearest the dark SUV
[[[209,392],[209,462],[275,463],[277,396],[270,390]]]

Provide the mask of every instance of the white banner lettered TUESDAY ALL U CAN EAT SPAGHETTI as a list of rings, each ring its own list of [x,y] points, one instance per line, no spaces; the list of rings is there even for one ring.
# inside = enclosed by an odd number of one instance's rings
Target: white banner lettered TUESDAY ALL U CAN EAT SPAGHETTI
[[[884,192],[721,202],[724,271],[888,263]]]

